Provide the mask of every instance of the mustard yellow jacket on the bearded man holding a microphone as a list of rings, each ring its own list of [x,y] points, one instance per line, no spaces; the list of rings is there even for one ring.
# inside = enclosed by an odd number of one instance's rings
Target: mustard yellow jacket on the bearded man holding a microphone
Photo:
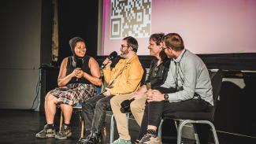
[[[129,61],[126,61],[121,59],[114,68],[103,69],[106,83],[108,85],[113,83],[110,94],[128,94],[139,89],[143,77],[143,67],[139,62],[139,57],[134,55]]]

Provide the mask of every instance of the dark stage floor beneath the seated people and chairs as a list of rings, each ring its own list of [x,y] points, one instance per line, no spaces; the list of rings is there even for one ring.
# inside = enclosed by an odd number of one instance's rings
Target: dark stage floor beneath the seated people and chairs
[[[109,143],[109,119],[110,116],[106,116],[106,142]],[[55,126],[58,127],[60,120],[60,114],[58,113],[55,119]],[[29,110],[1,110],[0,109],[0,143],[63,143],[71,144],[76,143],[80,138],[80,124],[78,123],[78,113],[72,116],[72,137],[66,140],[57,140],[55,138],[35,138],[35,134],[43,128],[45,124],[44,113],[29,111]],[[130,135],[132,141],[138,135],[138,126],[134,120],[130,120]],[[164,128],[169,126],[164,126]],[[170,127],[171,128],[171,127]],[[173,128],[172,128],[173,129]],[[165,131],[165,130],[163,130]],[[115,138],[117,138],[117,130],[115,131]],[[256,143],[254,138],[245,138],[236,135],[224,135],[217,133],[220,143],[224,144],[242,144],[242,143]],[[163,134],[164,143],[176,143],[174,136],[165,136]],[[212,138],[210,142],[213,143]]]

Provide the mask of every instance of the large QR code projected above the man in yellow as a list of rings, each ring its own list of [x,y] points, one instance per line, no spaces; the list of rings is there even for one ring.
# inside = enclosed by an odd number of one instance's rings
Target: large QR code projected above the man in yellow
[[[111,0],[110,23],[110,39],[149,37],[151,0]]]

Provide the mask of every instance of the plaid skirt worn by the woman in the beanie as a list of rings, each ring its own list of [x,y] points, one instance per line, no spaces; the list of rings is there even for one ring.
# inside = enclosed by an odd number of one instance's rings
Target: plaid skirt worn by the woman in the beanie
[[[57,87],[50,90],[50,94],[58,98],[58,105],[75,105],[84,102],[93,97],[96,93],[96,87],[93,84],[71,83],[65,87]]]

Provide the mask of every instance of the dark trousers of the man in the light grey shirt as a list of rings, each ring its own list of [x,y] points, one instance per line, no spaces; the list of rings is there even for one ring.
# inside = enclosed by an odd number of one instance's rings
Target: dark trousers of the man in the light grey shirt
[[[210,104],[200,100],[187,100],[184,102],[150,102],[146,104],[143,121],[139,131],[139,138],[147,133],[147,126],[153,125],[158,127],[161,116],[166,113],[174,112],[203,112],[209,109]]]

